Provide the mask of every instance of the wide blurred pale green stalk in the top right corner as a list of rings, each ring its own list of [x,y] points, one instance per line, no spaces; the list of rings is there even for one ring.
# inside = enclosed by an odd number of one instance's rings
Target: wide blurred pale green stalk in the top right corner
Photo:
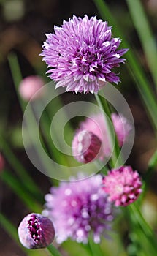
[[[155,35],[153,35],[151,31],[150,24],[148,23],[148,18],[145,14],[141,1],[126,0],[126,3],[128,4],[132,22],[134,23],[135,29],[137,29],[142,48],[145,52],[145,57],[148,61],[148,66],[157,89],[157,48]]]

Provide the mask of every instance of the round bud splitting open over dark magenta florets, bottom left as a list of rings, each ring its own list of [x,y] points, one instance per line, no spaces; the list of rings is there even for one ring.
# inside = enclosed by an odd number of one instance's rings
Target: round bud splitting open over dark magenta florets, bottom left
[[[20,243],[28,249],[45,248],[55,237],[53,222],[41,214],[28,214],[18,227]]]

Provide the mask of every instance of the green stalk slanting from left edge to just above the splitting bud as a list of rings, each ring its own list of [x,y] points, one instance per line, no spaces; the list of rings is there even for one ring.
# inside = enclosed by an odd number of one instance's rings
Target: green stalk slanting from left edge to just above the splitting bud
[[[35,212],[42,211],[42,206],[39,206],[37,203],[34,202],[34,198],[28,194],[26,189],[23,187],[18,179],[7,170],[4,170],[1,173],[1,179],[4,181],[11,189],[20,197],[21,200],[26,204],[26,206]]]

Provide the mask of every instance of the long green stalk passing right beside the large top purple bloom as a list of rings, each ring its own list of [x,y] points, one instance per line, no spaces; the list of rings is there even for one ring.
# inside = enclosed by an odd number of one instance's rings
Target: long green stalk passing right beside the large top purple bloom
[[[157,129],[157,118],[156,118],[156,97],[150,88],[150,83],[148,78],[145,75],[144,70],[139,64],[135,54],[131,50],[129,42],[126,41],[125,37],[123,36],[123,32],[121,31],[120,27],[116,23],[115,19],[112,16],[107,4],[103,0],[93,0],[96,4],[97,9],[99,10],[100,15],[104,20],[108,20],[110,24],[113,26],[113,32],[115,36],[120,37],[122,39],[122,46],[123,48],[129,48],[129,52],[126,53],[126,57],[128,60],[129,72],[131,72],[132,77],[135,80],[137,85],[137,89],[139,90],[139,94],[142,97],[143,102],[145,103],[145,107],[148,110],[150,120],[152,121],[153,127]]]

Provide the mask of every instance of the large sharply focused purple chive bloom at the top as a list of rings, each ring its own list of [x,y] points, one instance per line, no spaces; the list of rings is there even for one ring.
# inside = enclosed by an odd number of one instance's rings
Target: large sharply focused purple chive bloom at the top
[[[73,16],[61,27],[54,27],[54,34],[46,34],[41,55],[50,67],[50,78],[56,87],[66,91],[97,92],[106,82],[118,83],[120,78],[113,72],[125,59],[128,49],[118,50],[119,38],[112,38],[107,21],[96,16]]]

